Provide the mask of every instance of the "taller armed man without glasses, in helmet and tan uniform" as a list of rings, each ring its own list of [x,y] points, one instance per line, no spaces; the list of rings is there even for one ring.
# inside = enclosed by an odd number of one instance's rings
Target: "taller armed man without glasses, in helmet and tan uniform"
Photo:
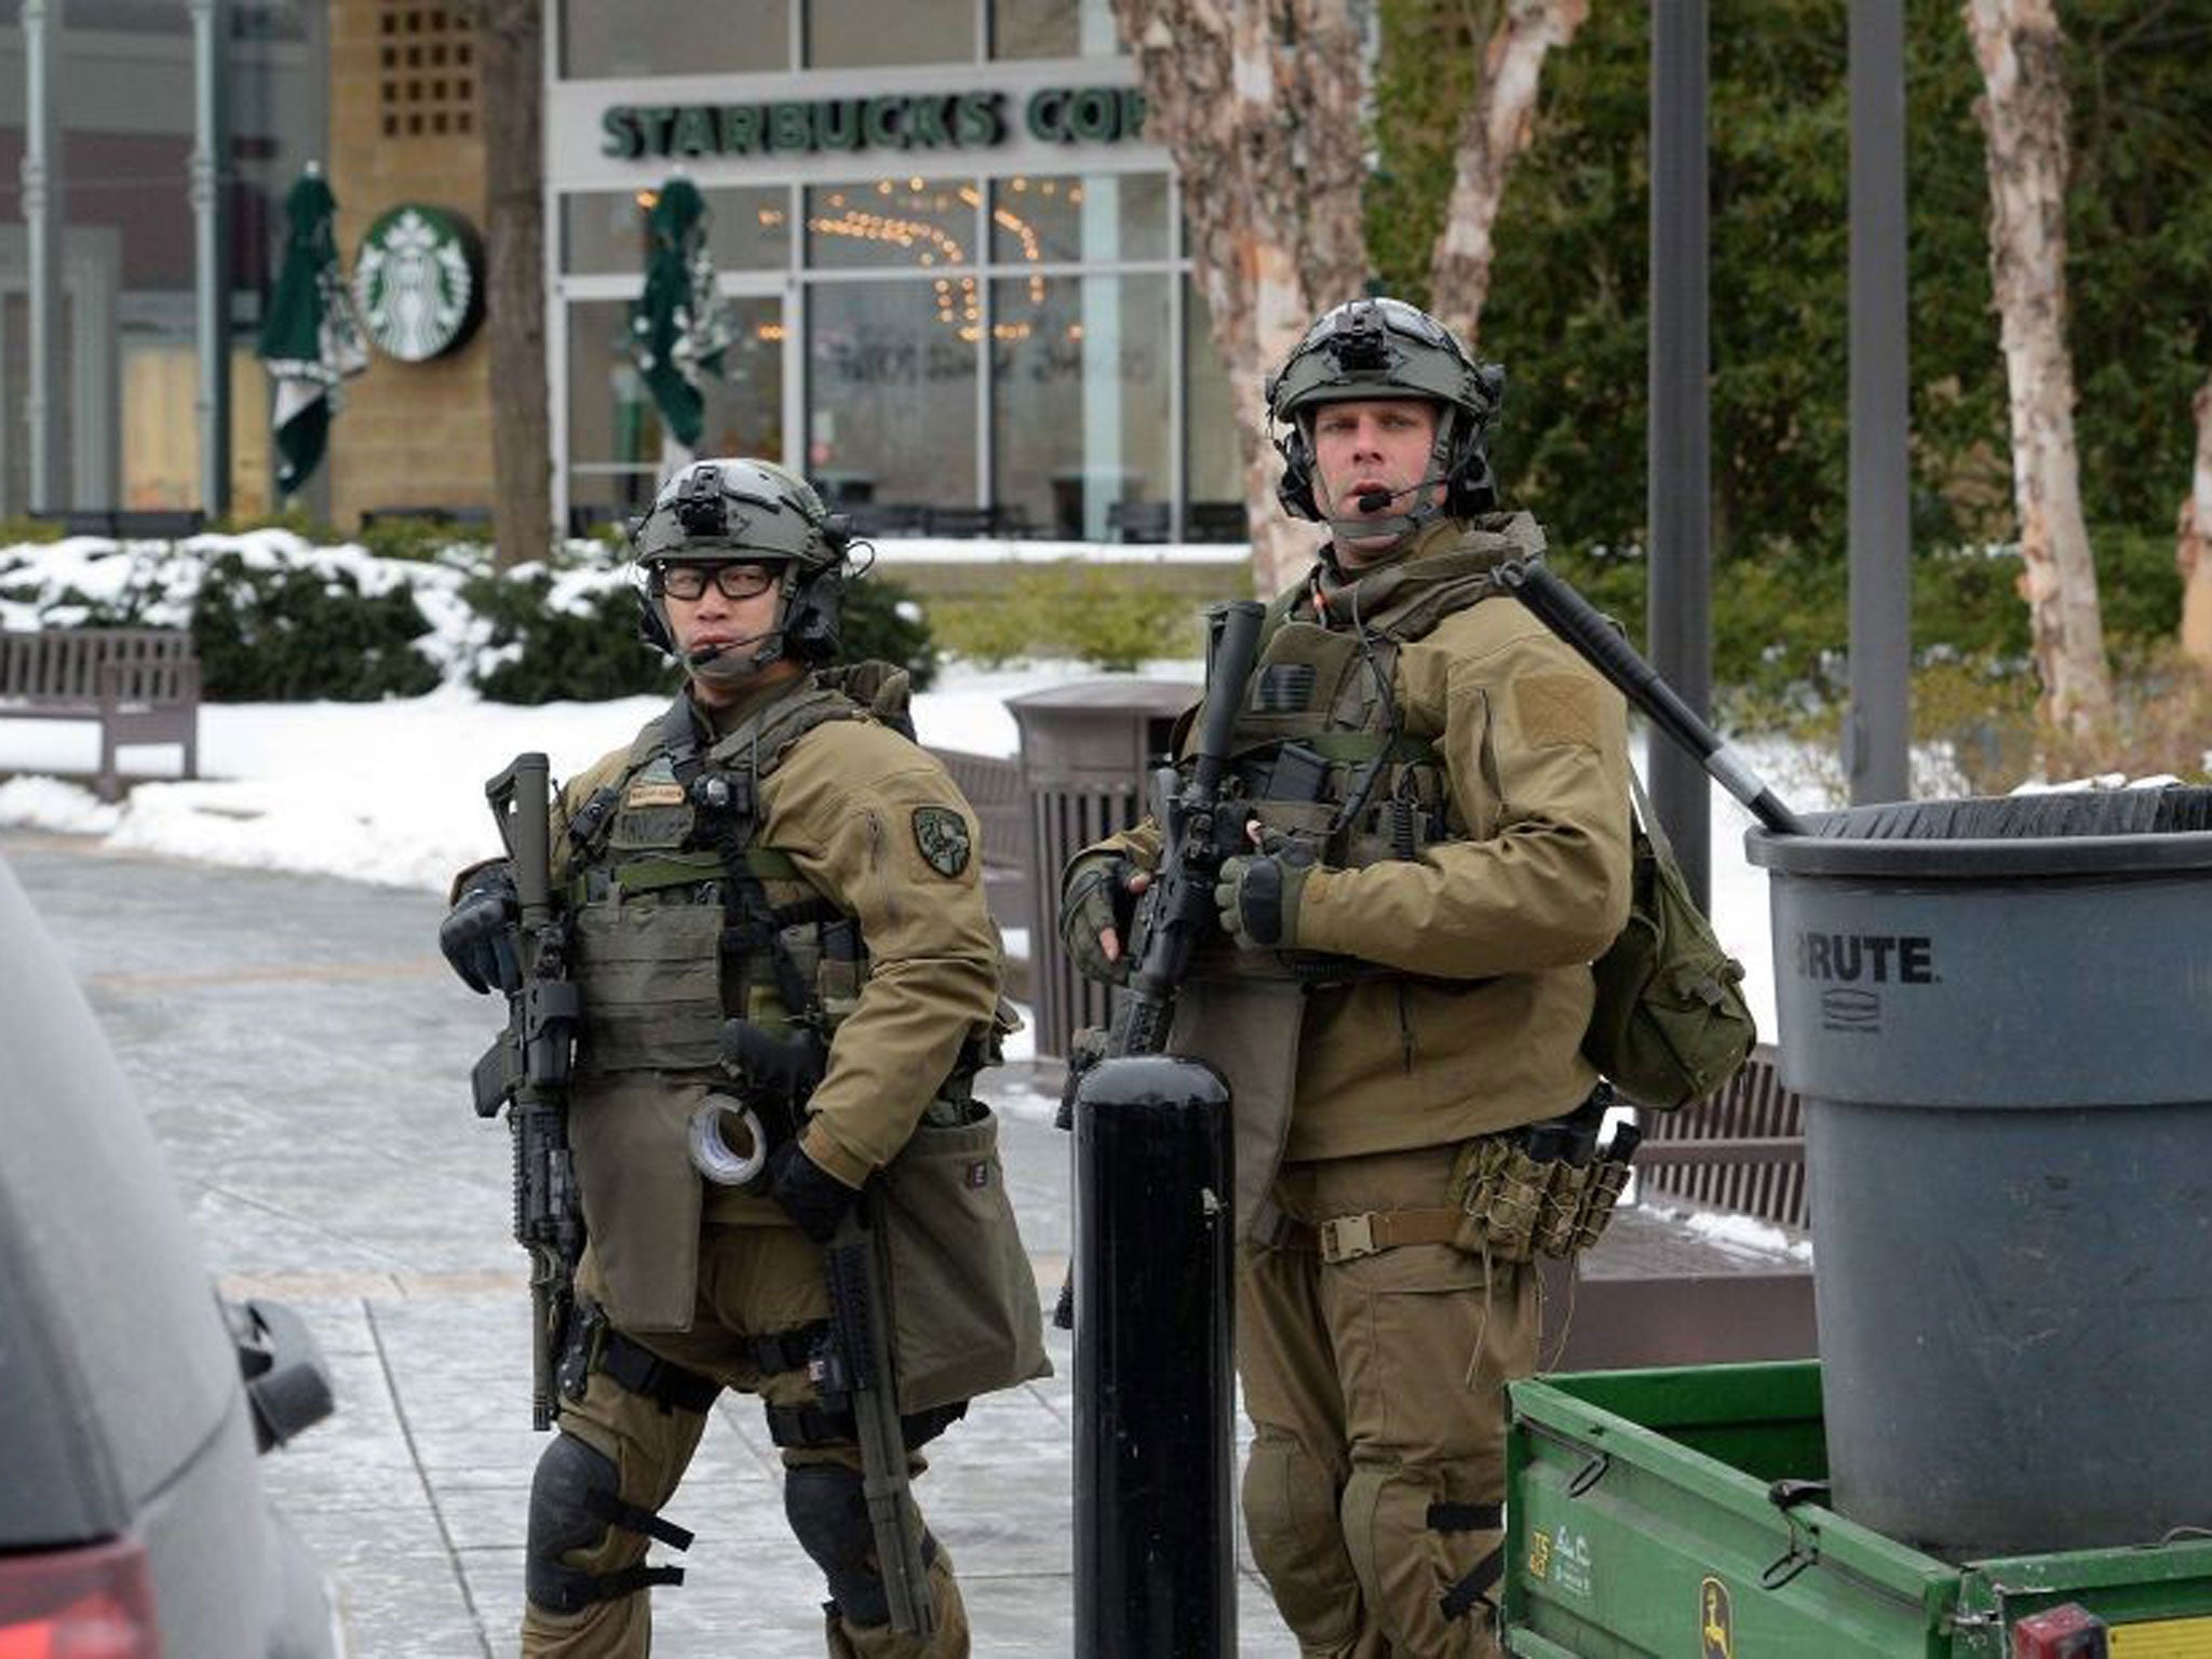
[[[1281,500],[1327,526],[1237,695],[1254,821],[1172,1053],[1237,1115],[1252,1557],[1301,1652],[1495,1655],[1504,1383],[1537,1356],[1526,1248],[1486,1217],[1522,1126],[1595,1135],[1590,960],[1628,916],[1626,710],[1491,586],[1502,372],[1394,299],[1267,378]],[[1128,971],[1159,830],[1077,856],[1060,931]],[[1522,1228],[1526,1239],[1526,1228]]]

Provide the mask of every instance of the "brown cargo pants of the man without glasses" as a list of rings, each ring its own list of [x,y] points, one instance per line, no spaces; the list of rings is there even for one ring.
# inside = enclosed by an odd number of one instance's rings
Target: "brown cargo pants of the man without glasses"
[[[1239,1252],[1245,1533],[1305,1659],[1500,1652],[1504,1385],[1535,1369],[1535,1270],[1451,1243],[1325,1263],[1310,1232],[1447,1206],[1455,1150],[1285,1164],[1303,1248]]]

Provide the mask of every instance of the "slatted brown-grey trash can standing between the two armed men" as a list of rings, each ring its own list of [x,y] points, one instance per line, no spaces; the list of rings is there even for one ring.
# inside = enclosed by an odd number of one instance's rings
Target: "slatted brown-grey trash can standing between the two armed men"
[[[1106,1024],[1106,987],[1082,978],[1060,947],[1060,872],[1150,810],[1152,768],[1168,759],[1175,719],[1201,690],[1164,679],[1091,679],[1006,699],[1022,734],[1031,812],[1029,984],[1040,1055],[1066,1055],[1079,1026]]]

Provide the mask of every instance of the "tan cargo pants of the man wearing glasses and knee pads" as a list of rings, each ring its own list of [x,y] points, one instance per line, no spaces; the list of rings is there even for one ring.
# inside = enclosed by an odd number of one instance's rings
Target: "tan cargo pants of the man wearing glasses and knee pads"
[[[577,1274],[591,1294],[593,1261],[586,1252]],[[814,1405],[805,1371],[763,1374],[752,1356],[752,1338],[776,1336],[830,1316],[823,1287],[823,1252],[790,1225],[708,1223],[699,1250],[699,1305],[688,1332],[653,1332],[633,1338],[659,1358],[708,1376],[723,1387],[757,1394],[770,1407]],[[677,1491],[690,1464],[706,1411],[686,1411],[630,1394],[606,1371],[593,1369],[582,1400],[562,1400],[560,1433],[575,1436],[608,1458],[619,1475],[617,1495],[644,1511],[659,1511]],[[785,1447],[783,1467],[860,1467],[856,1444]],[[909,1455],[909,1471],[927,1464]],[[701,1493],[701,1509],[714,1500]],[[781,1502],[781,1495],[779,1495]],[[648,1540],[611,1526],[591,1548],[568,1551],[562,1562],[593,1575],[619,1573],[644,1559]],[[681,1595],[681,1586],[672,1590]],[[936,1635],[920,1644],[889,1624],[858,1626],[825,1606],[830,1659],[967,1659],[969,1626],[951,1555],[942,1544],[929,1564],[929,1595]],[[524,1659],[644,1659],[653,1650],[648,1593],[597,1601],[580,1613],[555,1615],[524,1604]]]

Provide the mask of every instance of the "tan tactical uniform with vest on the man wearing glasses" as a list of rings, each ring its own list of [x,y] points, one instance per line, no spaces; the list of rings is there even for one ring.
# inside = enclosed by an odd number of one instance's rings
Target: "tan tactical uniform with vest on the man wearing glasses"
[[[825,695],[807,681],[776,686],[726,710],[719,739],[697,728],[695,743],[708,765],[757,776],[750,867],[779,918],[801,918],[785,940],[825,1004],[843,1013],[803,1148],[858,1186],[907,1141],[956,1073],[962,1046],[989,1033],[1000,953],[973,856],[975,818],[942,765],[843,699],[792,719],[803,699]],[[697,719],[688,699],[679,710]],[[823,712],[830,717],[814,723]],[[714,1048],[721,1020],[743,1013],[781,1031],[792,1009],[757,956],[743,958],[743,971],[719,960],[730,920],[714,896],[723,865],[712,852],[681,849],[690,807],[668,734],[655,721],[628,750],[568,783],[555,818],[564,856],[555,878],[568,896],[586,1011],[568,1106],[591,1232],[577,1283],[628,1349],[628,1380],[637,1383],[639,1356],[650,1356],[672,1367],[677,1383],[664,1387],[668,1376],[657,1374],[639,1391],[595,1363],[582,1398],[562,1400],[560,1431],[613,1460],[619,1500],[641,1524],[675,1493],[712,1385],[759,1394],[787,1420],[807,1416],[814,1389],[799,1369],[799,1334],[827,1314],[821,1250],[770,1199],[706,1188],[686,1152],[692,1108],[710,1088],[730,1088]],[[604,803],[597,814],[595,796]],[[571,825],[586,836],[582,854]],[[810,958],[807,911],[856,920],[865,962]],[[686,940],[690,960],[670,967]],[[799,1444],[783,1433],[779,1442],[787,1471],[858,1469],[849,1429],[838,1436],[816,1425]],[[615,1524],[562,1562],[619,1582],[639,1568],[646,1546],[641,1531]],[[830,1652],[964,1655],[967,1617],[942,1548],[931,1590],[938,1632],[927,1646],[889,1624],[860,1626],[832,1610]],[[564,1615],[531,1604],[522,1648],[644,1655],[648,1597],[615,1595]]]

